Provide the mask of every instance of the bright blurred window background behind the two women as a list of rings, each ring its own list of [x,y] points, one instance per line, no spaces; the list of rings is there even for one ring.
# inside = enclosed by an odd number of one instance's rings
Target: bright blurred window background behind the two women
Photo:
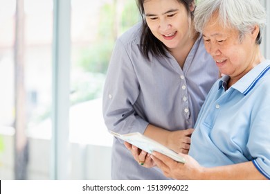
[[[141,20],[136,1],[0,5],[0,179],[111,179],[102,87],[114,42]]]

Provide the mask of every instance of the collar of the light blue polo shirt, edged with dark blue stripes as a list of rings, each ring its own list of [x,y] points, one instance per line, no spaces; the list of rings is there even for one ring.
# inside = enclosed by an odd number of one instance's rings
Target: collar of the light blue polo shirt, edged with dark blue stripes
[[[264,73],[270,70],[270,60],[265,60],[264,62],[258,64],[256,67],[251,69],[246,75],[244,75],[240,80],[238,80],[231,87],[237,89],[242,94],[246,95],[253,89],[258,80],[264,76]],[[224,88],[224,85],[228,82],[229,76],[223,76],[219,80],[219,89]],[[224,88],[226,90],[226,88]]]

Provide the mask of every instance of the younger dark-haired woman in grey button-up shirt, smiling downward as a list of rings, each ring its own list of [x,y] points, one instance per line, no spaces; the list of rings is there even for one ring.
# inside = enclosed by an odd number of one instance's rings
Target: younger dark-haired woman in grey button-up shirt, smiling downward
[[[194,28],[192,0],[138,0],[143,21],[119,37],[103,94],[108,130],[140,132],[176,152],[188,153],[190,135],[218,69]],[[132,147],[130,147],[132,148]],[[136,150],[135,147],[132,149]],[[143,168],[114,139],[112,179],[168,179]],[[139,161],[139,163],[138,163]]]

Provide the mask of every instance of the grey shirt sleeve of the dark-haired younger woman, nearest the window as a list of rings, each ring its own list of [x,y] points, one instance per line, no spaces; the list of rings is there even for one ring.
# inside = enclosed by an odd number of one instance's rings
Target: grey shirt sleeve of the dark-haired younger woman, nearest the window
[[[148,123],[134,111],[140,85],[127,47],[116,41],[102,97],[102,112],[108,130],[119,134],[145,131]]]

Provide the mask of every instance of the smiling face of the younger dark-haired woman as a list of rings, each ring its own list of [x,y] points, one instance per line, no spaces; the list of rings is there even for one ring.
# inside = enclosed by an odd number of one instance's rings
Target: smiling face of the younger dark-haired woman
[[[182,46],[190,39],[191,19],[185,6],[179,1],[146,0],[143,8],[151,32],[168,48]]]

